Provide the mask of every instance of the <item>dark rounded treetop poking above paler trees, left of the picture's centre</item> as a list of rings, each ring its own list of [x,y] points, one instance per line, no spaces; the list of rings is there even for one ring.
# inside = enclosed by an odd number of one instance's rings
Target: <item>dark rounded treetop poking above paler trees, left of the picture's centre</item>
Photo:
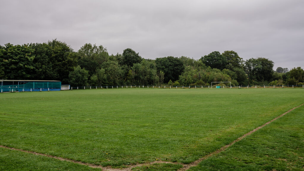
[[[140,63],[142,58],[139,56],[139,53],[136,53],[130,48],[123,50],[122,65],[127,65],[132,67],[133,64]]]

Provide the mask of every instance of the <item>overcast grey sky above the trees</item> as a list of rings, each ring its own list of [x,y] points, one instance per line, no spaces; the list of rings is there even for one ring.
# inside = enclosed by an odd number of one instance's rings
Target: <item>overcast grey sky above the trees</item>
[[[57,39],[143,58],[236,51],[304,68],[303,0],[1,0],[0,44]]]

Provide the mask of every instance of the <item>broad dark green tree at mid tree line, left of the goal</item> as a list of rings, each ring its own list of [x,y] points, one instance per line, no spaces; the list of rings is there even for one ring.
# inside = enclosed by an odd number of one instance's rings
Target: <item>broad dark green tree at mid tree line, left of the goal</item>
[[[155,63],[157,71],[164,72],[164,82],[168,82],[170,79],[172,81],[178,80],[178,76],[184,70],[184,64],[181,59],[172,56],[156,58]]]

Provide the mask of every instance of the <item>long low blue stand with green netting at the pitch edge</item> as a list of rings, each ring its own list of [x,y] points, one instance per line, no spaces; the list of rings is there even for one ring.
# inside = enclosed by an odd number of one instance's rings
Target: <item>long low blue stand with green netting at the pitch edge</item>
[[[60,91],[61,81],[48,80],[0,80],[1,92]]]

